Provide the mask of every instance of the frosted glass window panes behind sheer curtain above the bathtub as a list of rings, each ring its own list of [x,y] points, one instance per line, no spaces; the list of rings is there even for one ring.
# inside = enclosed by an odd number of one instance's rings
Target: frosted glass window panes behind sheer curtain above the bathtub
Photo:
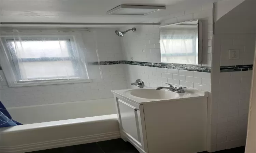
[[[18,81],[88,78],[72,37],[15,37],[6,41]]]

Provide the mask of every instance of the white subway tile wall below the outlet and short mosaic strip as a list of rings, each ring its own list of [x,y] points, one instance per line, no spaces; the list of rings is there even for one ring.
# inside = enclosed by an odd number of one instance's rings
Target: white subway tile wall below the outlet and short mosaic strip
[[[241,85],[243,78],[251,83],[252,71],[224,73],[225,76],[220,77],[218,84],[219,100],[215,104],[217,109],[212,109],[212,116],[216,115],[216,119],[211,123],[217,125],[214,126],[217,133],[212,133],[217,134],[217,140],[212,142],[212,145],[216,144],[217,150],[245,145],[250,101],[251,85]]]

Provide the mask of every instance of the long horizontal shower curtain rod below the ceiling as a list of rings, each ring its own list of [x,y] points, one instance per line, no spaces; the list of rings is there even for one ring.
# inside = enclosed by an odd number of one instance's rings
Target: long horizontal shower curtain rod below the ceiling
[[[1,22],[1,24],[42,24],[42,25],[160,25],[157,23],[77,23],[77,22]]]

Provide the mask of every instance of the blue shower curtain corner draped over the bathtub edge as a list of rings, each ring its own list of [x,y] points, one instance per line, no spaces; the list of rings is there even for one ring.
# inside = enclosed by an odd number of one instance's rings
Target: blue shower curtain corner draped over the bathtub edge
[[[7,109],[4,107],[4,105],[0,101],[0,128],[15,126],[15,125],[22,125],[22,124],[12,119],[12,116],[9,114]]]

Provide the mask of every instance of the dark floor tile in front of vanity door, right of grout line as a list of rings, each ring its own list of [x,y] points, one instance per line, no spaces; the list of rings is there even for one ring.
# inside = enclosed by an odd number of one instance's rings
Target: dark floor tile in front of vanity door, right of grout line
[[[139,153],[129,142],[123,139],[113,139],[97,142],[104,153]]]

